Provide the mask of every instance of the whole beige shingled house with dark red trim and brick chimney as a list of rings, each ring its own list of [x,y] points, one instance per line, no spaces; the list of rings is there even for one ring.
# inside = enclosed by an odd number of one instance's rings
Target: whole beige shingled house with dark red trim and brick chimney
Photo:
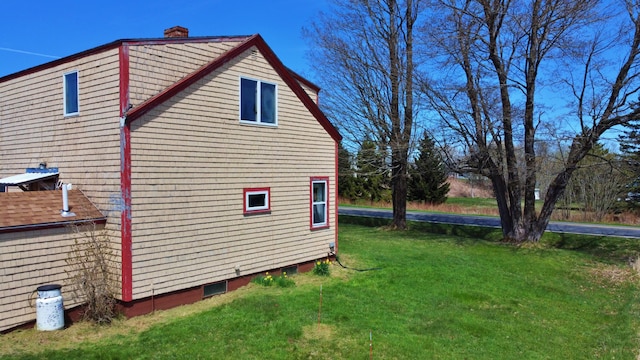
[[[38,285],[64,285],[69,223],[104,224],[129,316],[337,249],[340,134],[318,91],[259,35],[182,27],[0,78],[0,331],[34,320]],[[57,177],[20,183],[41,163]],[[77,218],[59,216],[61,182]]]

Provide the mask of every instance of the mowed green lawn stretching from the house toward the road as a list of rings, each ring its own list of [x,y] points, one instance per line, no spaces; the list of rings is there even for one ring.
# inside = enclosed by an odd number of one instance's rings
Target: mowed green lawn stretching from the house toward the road
[[[9,359],[636,358],[639,283],[625,264],[345,223],[339,247],[343,264],[380,269],[334,263],[329,278],[252,284],[186,315],[170,310],[143,317],[145,326],[129,326],[134,318],[94,328],[105,334],[96,339],[70,340],[81,328],[74,325],[2,335],[0,349]]]

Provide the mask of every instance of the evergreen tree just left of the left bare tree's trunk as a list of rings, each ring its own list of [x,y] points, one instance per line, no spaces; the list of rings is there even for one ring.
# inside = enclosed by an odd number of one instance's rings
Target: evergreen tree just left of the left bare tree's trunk
[[[373,202],[382,199],[384,187],[385,162],[384,156],[376,144],[366,139],[360,145],[356,157],[358,187],[362,189],[362,197]]]

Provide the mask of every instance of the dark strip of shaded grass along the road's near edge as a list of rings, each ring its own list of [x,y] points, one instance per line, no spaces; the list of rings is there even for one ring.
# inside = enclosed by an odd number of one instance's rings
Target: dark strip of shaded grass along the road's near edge
[[[391,223],[390,219],[349,215],[340,215],[339,221],[370,227],[383,227]],[[407,224],[410,230],[418,232],[493,242],[502,240],[502,231],[496,228],[417,221],[408,221]],[[640,240],[630,238],[545,232],[540,245],[577,251],[608,262],[628,262],[640,256]]]

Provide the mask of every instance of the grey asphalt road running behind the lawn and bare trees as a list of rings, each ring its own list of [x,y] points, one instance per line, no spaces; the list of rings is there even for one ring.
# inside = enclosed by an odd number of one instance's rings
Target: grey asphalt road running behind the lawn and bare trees
[[[391,210],[362,209],[340,207],[340,215],[366,216],[391,219]],[[492,216],[474,216],[457,214],[437,214],[425,212],[407,211],[407,220],[434,222],[455,225],[472,225],[484,227],[500,227],[500,219]],[[547,231],[559,233],[572,233],[595,236],[617,236],[627,238],[640,238],[640,228],[635,226],[595,225],[570,222],[552,221],[547,226]]]

